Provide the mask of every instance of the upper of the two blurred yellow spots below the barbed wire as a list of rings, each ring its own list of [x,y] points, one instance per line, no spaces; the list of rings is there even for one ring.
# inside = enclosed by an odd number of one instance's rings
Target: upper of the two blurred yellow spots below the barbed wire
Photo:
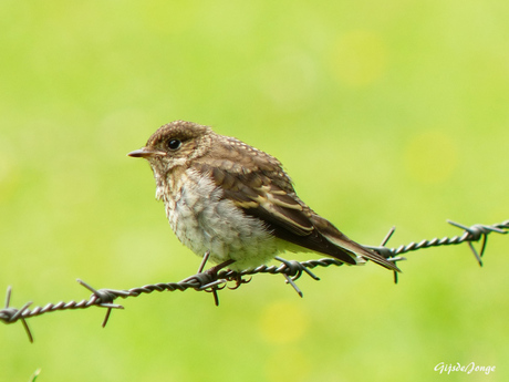
[[[273,302],[266,307],[260,317],[262,335],[270,343],[295,341],[307,328],[307,314],[298,303]]]

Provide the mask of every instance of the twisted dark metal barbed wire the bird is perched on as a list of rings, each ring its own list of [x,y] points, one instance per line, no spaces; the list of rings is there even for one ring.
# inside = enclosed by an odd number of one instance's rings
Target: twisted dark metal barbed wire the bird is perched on
[[[509,231],[509,220],[502,221],[500,224],[494,224],[491,226],[476,224],[474,226],[464,226],[461,224],[447,220],[450,225],[461,228],[464,233],[460,236],[454,237],[443,237],[433,238],[430,240],[422,240],[419,242],[412,241],[406,246],[399,246],[397,248],[387,248],[385,245],[392,237],[395,231],[393,227],[385,238],[382,240],[380,247],[371,247],[372,250],[378,252],[384,258],[389,261],[397,262],[402,260],[406,260],[406,258],[402,257],[401,255],[424,249],[430,247],[439,247],[439,246],[451,246],[451,245],[460,245],[463,242],[468,242],[471,252],[474,254],[476,260],[478,261],[479,266],[482,266],[481,257],[485,252],[488,235],[491,233],[497,234],[507,234]],[[472,242],[479,241],[482,239],[480,249],[477,250]],[[237,289],[243,283],[248,283],[251,281],[251,278],[246,279],[245,277],[253,276],[258,273],[270,273],[270,275],[283,275],[287,279],[287,282],[290,283],[299,296],[303,296],[302,291],[295,285],[295,280],[299,279],[303,273],[307,273],[314,280],[320,280],[311,269],[316,267],[330,267],[330,266],[342,266],[343,262],[333,258],[323,258],[318,260],[307,260],[307,261],[297,261],[297,260],[285,260],[280,257],[276,259],[281,261],[279,266],[260,266],[254,269],[243,270],[243,271],[233,271],[230,269],[221,269],[220,267],[212,267],[209,270],[202,271],[205,262],[207,261],[208,255],[204,257],[204,261],[199,268],[198,273],[190,276],[181,281],[178,282],[158,282],[153,285],[146,285],[143,287],[131,288],[126,290],[117,290],[117,289],[95,289],[85,281],[77,280],[80,285],[85,287],[92,292],[92,296],[85,300],[81,301],[69,301],[69,302],[58,302],[58,303],[46,303],[44,307],[35,307],[32,310],[29,307],[32,304],[31,301],[24,303],[21,308],[13,308],[10,307],[11,297],[12,297],[12,288],[8,287],[7,296],[6,296],[6,307],[0,310],[0,321],[3,323],[10,324],[18,321],[21,321],[27,334],[29,337],[30,342],[33,342],[33,335],[29,329],[27,323],[27,319],[33,318],[37,316],[45,314],[49,312],[54,311],[63,311],[63,310],[76,310],[76,309],[87,309],[91,307],[101,307],[106,308],[106,314],[103,320],[103,328],[106,326],[110,314],[113,309],[124,309],[123,306],[114,303],[117,298],[126,299],[128,297],[138,297],[145,293],[152,293],[154,291],[163,292],[163,291],[186,291],[188,289],[194,289],[197,291],[206,291],[211,292],[214,295],[216,306],[219,304],[218,299],[218,290],[221,290],[227,287],[229,282],[235,282],[235,287],[228,287],[229,289]],[[394,272],[394,281],[397,282],[397,273]]]

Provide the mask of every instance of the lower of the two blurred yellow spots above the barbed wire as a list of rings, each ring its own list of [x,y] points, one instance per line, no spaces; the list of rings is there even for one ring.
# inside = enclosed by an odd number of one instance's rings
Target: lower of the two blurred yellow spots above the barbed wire
[[[422,183],[439,183],[456,168],[458,154],[454,140],[438,131],[413,137],[405,151],[405,166],[409,175]]]

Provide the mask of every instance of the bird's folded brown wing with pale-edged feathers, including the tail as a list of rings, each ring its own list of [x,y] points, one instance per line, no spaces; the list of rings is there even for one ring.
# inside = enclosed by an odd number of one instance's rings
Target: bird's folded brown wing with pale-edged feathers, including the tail
[[[238,142],[238,141],[235,141]],[[292,182],[274,157],[239,142],[238,151],[249,149],[251,155],[241,155],[231,149],[229,157],[199,164],[209,173],[224,197],[250,216],[260,218],[276,237],[346,264],[355,265],[356,256],[370,259],[387,269],[399,271],[381,255],[351,240],[329,220],[316,215],[295,194]],[[233,159],[231,159],[232,154]]]

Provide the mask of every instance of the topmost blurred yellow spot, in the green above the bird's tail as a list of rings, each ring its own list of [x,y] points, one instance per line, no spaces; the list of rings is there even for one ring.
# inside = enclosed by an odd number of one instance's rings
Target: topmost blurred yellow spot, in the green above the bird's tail
[[[378,80],[385,71],[386,61],[385,43],[370,31],[347,32],[333,47],[334,75],[352,87],[366,86]]]

